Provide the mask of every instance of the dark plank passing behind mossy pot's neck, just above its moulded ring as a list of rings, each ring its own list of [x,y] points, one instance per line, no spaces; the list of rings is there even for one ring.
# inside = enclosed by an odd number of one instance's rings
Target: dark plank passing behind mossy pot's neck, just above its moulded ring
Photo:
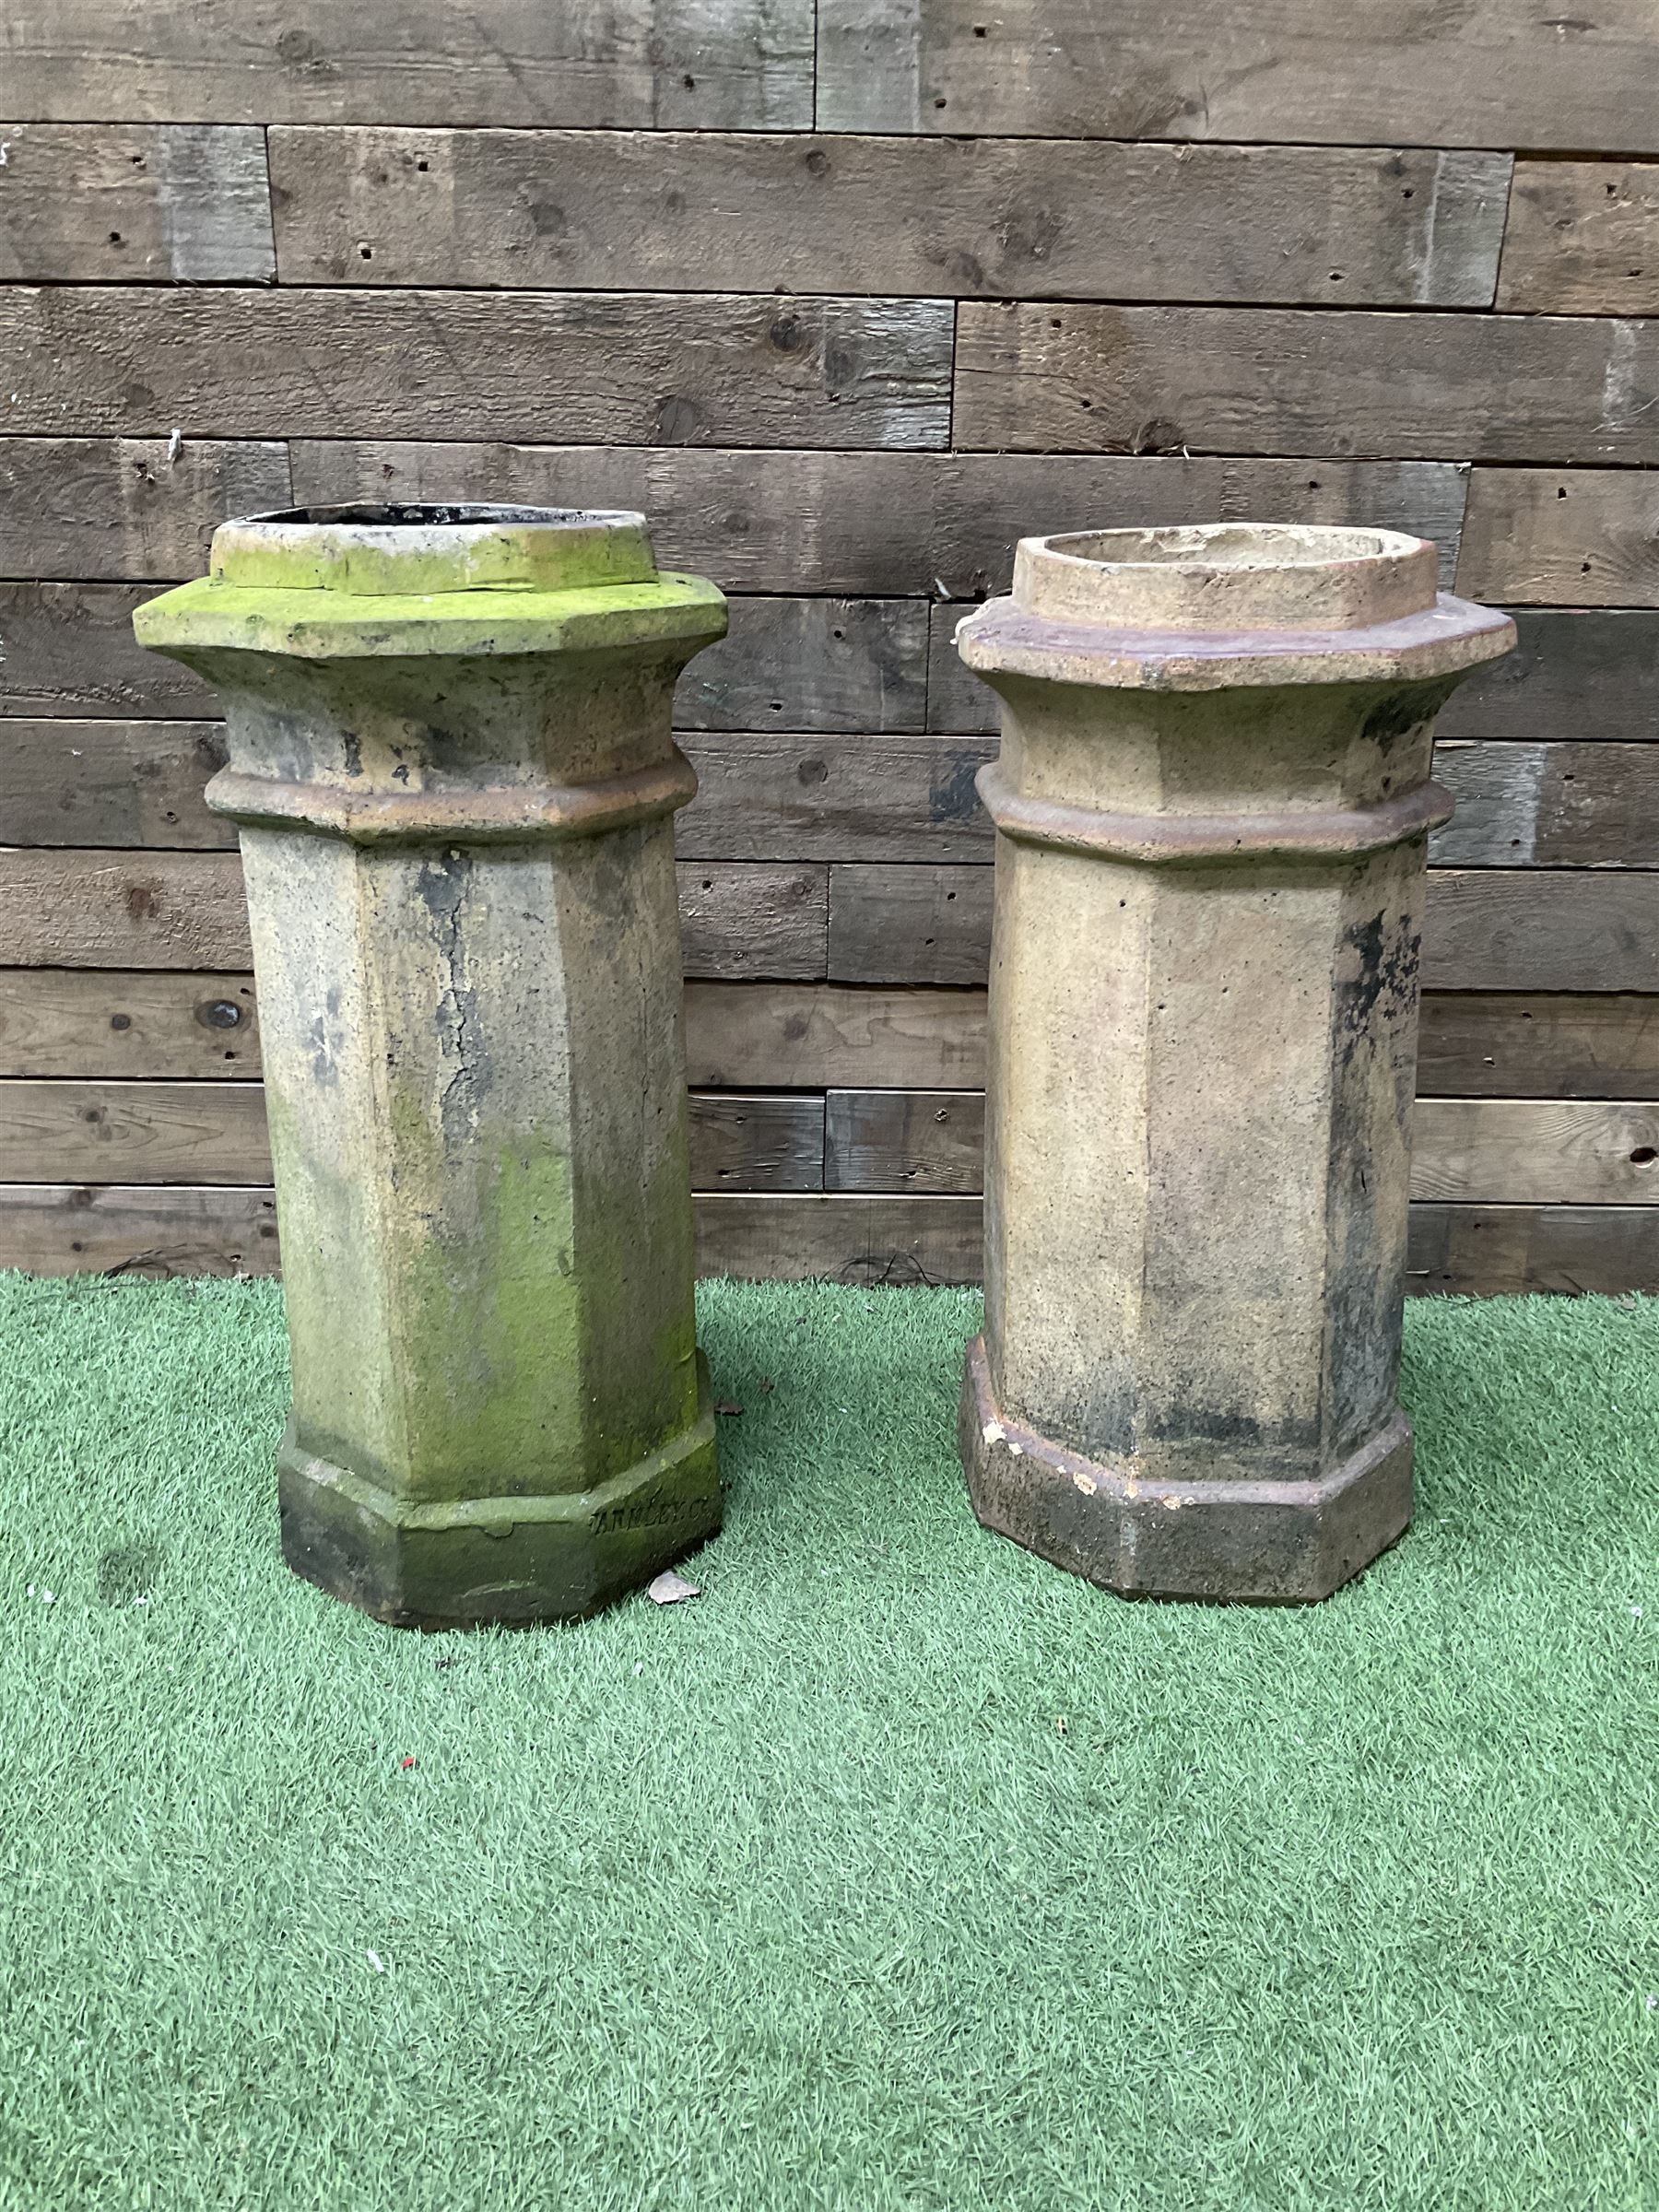
[[[0,717],[217,714],[217,695],[201,677],[133,637],[133,608],[153,595],[148,584],[0,584]],[[679,679],[681,728],[925,726],[920,599],[732,599],[730,624]],[[49,730],[33,743],[58,750]]]

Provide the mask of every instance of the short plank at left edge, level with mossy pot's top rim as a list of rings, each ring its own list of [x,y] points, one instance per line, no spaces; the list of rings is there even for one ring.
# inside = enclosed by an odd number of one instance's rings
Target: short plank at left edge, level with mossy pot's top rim
[[[221,522],[290,502],[279,440],[0,438],[0,577],[201,575]]]

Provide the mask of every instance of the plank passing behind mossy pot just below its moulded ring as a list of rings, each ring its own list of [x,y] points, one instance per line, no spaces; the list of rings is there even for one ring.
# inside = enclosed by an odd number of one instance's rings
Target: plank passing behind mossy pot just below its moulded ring
[[[823,975],[825,867],[681,865],[688,975]],[[246,969],[234,852],[0,849],[0,964]]]

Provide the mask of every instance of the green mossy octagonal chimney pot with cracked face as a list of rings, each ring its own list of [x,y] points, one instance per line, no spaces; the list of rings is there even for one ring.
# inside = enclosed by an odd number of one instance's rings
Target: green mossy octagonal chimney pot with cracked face
[[[303,507],[135,630],[226,708],[288,1562],[409,1626],[591,1613],[721,1513],[670,699],[726,602],[637,513]]]

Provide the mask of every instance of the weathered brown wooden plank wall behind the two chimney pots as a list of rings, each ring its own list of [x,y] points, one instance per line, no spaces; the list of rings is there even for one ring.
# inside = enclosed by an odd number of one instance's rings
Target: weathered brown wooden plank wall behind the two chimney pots
[[[128,617],[290,500],[639,504],[732,593],[681,816],[703,1261],[978,1265],[1024,531],[1422,531],[1413,1281],[1659,1287],[1659,20],[1531,0],[9,0],[0,1265],[270,1267],[210,695]]]

